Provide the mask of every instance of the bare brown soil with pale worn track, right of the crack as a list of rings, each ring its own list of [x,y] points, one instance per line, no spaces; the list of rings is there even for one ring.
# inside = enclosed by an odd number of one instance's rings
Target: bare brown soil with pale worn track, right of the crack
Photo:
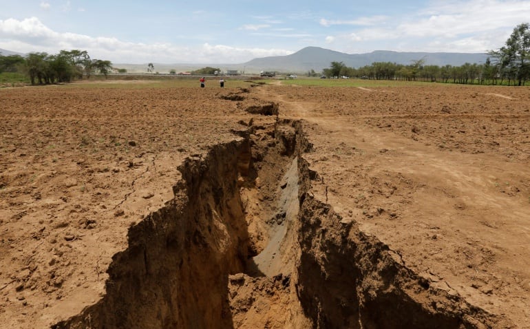
[[[530,328],[529,89],[262,93],[308,122],[316,151],[304,157],[337,213],[432,286]]]

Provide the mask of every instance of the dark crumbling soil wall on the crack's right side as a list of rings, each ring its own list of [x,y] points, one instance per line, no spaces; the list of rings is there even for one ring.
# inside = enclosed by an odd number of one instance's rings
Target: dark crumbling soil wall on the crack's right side
[[[377,237],[315,198],[311,187],[321,180],[304,160],[300,178],[298,295],[315,328],[496,326],[493,315],[449,287],[431,286]]]

